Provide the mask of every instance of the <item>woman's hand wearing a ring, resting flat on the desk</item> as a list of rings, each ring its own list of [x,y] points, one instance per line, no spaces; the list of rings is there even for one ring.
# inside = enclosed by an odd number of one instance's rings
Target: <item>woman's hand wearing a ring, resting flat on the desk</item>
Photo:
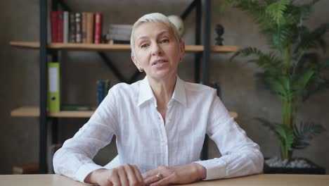
[[[143,174],[145,185],[187,184],[205,179],[207,170],[198,163],[185,166],[159,166]]]

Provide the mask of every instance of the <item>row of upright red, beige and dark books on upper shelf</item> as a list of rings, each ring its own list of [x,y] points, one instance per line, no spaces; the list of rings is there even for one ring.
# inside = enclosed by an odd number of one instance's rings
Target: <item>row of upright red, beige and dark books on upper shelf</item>
[[[100,44],[102,13],[51,11],[51,42]]]

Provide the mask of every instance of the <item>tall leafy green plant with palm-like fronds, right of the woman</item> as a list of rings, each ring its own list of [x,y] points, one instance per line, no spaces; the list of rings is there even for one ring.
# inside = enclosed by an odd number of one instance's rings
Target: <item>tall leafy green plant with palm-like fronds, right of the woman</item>
[[[325,73],[329,60],[321,61],[319,50],[325,52],[323,35],[329,30],[329,23],[323,23],[309,30],[304,21],[309,18],[316,0],[308,4],[296,4],[292,0],[226,0],[225,3],[245,11],[259,24],[260,32],[266,35],[271,51],[247,47],[236,56],[252,56],[248,62],[256,63],[262,69],[257,77],[276,94],[281,101],[282,120],[274,123],[265,118],[256,118],[271,130],[280,142],[281,159],[292,160],[292,151],[304,149],[315,135],[325,131],[316,123],[297,123],[297,114],[304,101],[314,93],[328,88]],[[328,76],[327,76],[328,77]]]

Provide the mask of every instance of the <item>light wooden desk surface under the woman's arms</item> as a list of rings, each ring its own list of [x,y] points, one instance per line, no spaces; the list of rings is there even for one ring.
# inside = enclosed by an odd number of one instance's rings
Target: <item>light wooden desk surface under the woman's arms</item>
[[[81,182],[76,182],[63,175],[0,175],[0,186],[82,186]],[[241,178],[231,178],[224,180],[201,181],[191,184],[191,186],[210,185],[279,185],[279,186],[322,186],[329,185],[329,175],[276,175],[262,174],[250,175]]]

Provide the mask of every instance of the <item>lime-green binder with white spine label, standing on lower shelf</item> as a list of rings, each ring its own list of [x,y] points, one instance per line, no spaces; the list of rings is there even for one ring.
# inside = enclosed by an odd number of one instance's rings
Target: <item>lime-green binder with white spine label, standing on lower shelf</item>
[[[60,111],[60,65],[48,63],[48,111]]]

